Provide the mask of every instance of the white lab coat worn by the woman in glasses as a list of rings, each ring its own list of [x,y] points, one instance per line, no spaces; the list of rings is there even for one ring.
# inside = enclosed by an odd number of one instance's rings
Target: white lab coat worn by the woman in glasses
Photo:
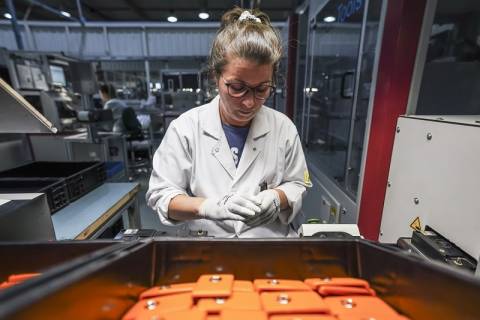
[[[242,156],[235,167],[219,113],[219,97],[172,121],[153,157],[147,203],[178,234],[207,231],[215,237],[296,236],[289,223],[311,187],[295,125],[284,114],[262,106],[255,115]],[[255,195],[266,181],[285,192],[290,209],[275,222],[251,228],[241,221],[206,219],[178,222],[168,218],[170,200],[180,194],[220,198],[232,192]]]

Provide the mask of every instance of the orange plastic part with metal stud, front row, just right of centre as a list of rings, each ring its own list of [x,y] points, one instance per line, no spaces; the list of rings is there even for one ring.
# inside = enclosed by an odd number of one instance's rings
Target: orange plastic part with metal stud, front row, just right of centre
[[[263,292],[260,300],[268,314],[329,313],[323,299],[312,291]]]

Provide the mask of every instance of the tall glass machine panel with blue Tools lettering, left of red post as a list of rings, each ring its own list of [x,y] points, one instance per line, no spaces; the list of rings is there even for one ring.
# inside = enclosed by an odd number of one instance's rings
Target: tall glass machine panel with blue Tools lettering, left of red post
[[[356,198],[382,0],[332,0],[310,23],[301,136],[309,164]]]

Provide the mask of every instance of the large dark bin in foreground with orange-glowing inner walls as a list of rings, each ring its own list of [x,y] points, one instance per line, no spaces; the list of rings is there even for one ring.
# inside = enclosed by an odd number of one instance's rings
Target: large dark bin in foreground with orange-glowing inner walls
[[[473,275],[364,240],[318,239],[133,243],[56,281],[32,281],[9,299],[0,295],[0,318],[120,319],[146,288],[211,273],[240,280],[352,276],[369,281],[412,320],[480,319]]]

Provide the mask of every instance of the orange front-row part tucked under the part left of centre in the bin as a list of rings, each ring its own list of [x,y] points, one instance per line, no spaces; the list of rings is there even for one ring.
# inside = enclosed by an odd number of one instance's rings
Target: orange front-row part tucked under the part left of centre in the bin
[[[261,310],[260,298],[256,292],[233,292],[229,298],[200,299],[197,308],[208,313],[219,313],[225,309]]]

